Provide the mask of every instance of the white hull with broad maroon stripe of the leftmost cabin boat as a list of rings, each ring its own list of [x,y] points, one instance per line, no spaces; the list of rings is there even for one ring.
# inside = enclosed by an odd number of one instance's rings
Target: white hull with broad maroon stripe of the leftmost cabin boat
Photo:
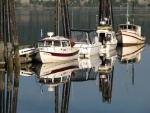
[[[47,51],[39,51],[36,53],[35,59],[42,63],[65,62],[78,59],[78,56],[78,50],[74,53],[54,53]]]

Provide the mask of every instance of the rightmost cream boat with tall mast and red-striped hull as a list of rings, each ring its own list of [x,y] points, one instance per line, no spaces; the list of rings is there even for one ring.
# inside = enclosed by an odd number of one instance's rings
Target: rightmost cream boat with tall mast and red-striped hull
[[[126,24],[120,24],[119,30],[116,33],[118,45],[128,46],[145,43],[146,38],[141,35],[141,26],[130,24],[128,21],[128,4],[127,3],[127,22]]]

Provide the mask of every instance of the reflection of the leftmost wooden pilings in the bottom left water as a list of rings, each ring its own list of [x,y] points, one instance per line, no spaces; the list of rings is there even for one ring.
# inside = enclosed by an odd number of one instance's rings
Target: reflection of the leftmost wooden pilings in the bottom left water
[[[20,68],[6,65],[0,69],[0,113],[16,113]]]

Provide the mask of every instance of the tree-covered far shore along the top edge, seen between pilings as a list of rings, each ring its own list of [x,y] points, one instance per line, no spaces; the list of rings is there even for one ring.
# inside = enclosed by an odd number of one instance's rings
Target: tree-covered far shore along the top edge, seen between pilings
[[[126,0],[112,0],[114,7],[123,6]],[[43,7],[54,7],[54,1],[49,0],[29,0],[29,3],[22,3],[21,0],[15,1],[15,7],[25,7],[25,6],[43,6]],[[98,7],[99,0],[68,0],[68,6],[70,7]],[[138,1],[134,1],[135,6],[140,6]],[[150,6],[150,4],[148,5]]]

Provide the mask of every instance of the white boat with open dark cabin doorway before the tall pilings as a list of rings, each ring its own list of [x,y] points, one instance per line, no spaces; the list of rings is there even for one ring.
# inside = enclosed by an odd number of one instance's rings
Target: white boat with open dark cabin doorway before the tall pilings
[[[116,49],[116,34],[111,26],[98,26],[96,33],[99,38],[99,42],[101,43],[100,53]]]

